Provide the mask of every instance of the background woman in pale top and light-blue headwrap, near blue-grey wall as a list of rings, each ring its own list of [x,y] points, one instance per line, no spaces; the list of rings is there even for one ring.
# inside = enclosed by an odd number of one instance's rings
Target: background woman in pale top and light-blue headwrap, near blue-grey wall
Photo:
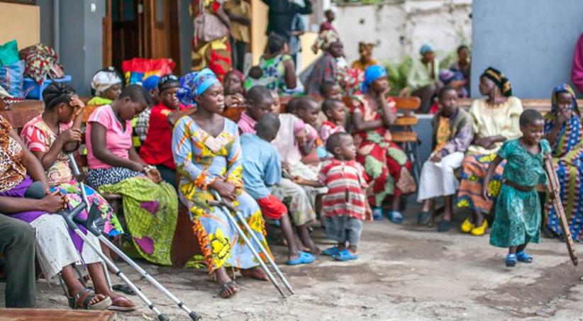
[[[442,86],[439,81],[439,60],[433,52],[433,45],[426,43],[421,47],[421,59],[413,59],[407,86],[401,91],[401,95],[411,93],[411,96],[421,98],[421,113],[428,113],[433,97]]]

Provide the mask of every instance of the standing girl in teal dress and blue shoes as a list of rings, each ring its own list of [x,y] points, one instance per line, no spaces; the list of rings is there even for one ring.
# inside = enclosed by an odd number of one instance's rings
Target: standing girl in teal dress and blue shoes
[[[506,266],[510,267],[517,261],[533,261],[525,249],[529,242],[538,243],[540,240],[540,200],[535,188],[546,182],[543,157],[550,153],[548,140],[543,139],[545,120],[538,111],[524,111],[520,127],[523,136],[504,142],[488,167],[482,187],[482,197],[487,199],[487,186],[494,170],[506,159],[504,184],[496,200],[490,244],[509,248]]]

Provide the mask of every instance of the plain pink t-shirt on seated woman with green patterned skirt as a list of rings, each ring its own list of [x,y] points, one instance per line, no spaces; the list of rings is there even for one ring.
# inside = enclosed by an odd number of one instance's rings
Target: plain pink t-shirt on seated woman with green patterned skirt
[[[121,127],[121,123],[113,114],[111,106],[101,106],[91,113],[87,120],[87,165],[89,169],[109,169],[113,166],[105,164],[93,155],[91,148],[91,125],[100,123],[106,128],[105,145],[106,149],[120,158],[129,159],[129,150],[132,147],[132,122],[126,120],[126,130]]]

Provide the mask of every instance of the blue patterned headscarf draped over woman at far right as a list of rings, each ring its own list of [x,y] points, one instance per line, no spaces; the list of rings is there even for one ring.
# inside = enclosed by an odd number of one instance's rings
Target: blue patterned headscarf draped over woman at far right
[[[581,128],[581,113],[579,113],[579,106],[577,106],[575,92],[568,84],[560,84],[553,89],[553,97],[551,98],[552,107],[550,113],[545,115],[545,134],[550,133],[550,130],[555,126],[557,112],[559,111],[559,106],[557,106],[557,94],[562,92],[569,93],[573,98],[571,103],[573,113],[571,118],[562,125],[559,137],[557,137],[555,146],[553,146],[553,155],[555,157],[562,157],[562,155],[571,150],[580,149],[579,145],[582,142],[583,135],[583,128]]]

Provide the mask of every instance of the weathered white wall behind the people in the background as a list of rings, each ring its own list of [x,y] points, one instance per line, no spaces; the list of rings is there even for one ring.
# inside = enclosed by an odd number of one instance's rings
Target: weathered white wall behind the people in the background
[[[432,43],[441,58],[472,39],[472,0],[387,0],[333,8],[350,62],[358,57],[359,41],[378,44],[377,60],[401,62],[406,55],[417,57],[423,43]]]

